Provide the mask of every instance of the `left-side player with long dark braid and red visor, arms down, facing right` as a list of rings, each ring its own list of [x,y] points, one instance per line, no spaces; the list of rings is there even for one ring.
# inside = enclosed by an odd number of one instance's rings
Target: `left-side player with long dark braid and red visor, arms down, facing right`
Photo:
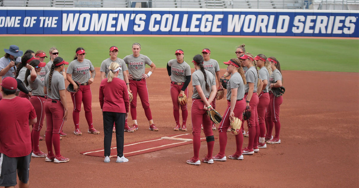
[[[61,57],[56,57],[53,60],[50,72],[45,76],[44,92],[48,96],[45,103],[46,162],[65,163],[70,160],[60,154],[60,130],[64,125],[64,121],[67,120],[65,80],[60,74],[65,64],[69,64],[69,62],[64,61]],[[55,155],[53,154],[52,145],[55,149]]]

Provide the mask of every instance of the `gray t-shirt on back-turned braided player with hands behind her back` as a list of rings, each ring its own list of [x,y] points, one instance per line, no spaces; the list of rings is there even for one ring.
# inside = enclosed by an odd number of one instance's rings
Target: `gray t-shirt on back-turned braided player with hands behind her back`
[[[216,85],[216,79],[214,78],[213,74],[211,72],[207,71],[207,70],[204,70],[204,71],[205,71],[206,76],[207,76],[206,82],[209,85],[209,91],[206,90],[206,83],[204,81],[204,75],[203,75],[202,71],[201,70],[196,70],[192,74],[192,86],[193,86],[192,98],[201,98],[200,95],[198,94],[198,91],[197,91],[195,86],[200,85],[204,95],[206,96],[206,98],[208,98],[209,94],[212,91],[211,86]]]

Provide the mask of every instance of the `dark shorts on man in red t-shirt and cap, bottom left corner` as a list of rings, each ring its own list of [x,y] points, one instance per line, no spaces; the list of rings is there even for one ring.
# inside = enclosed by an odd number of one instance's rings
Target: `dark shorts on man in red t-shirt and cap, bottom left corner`
[[[15,186],[16,172],[23,183],[29,181],[31,153],[22,157],[8,157],[0,153],[0,187]]]

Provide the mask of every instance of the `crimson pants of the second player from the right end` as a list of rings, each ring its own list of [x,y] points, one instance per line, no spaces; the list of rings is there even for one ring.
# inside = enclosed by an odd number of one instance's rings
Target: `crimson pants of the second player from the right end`
[[[261,92],[259,95],[259,103],[257,106],[257,113],[258,113],[258,123],[259,123],[259,137],[264,137],[266,135],[266,124],[265,124],[265,117],[266,117],[266,109],[269,104],[269,93]]]

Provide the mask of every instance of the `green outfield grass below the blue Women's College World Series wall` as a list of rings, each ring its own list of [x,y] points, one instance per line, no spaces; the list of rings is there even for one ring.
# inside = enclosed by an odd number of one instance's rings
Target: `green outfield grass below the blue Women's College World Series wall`
[[[99,67],[108,58],[108,49],[116,45],[119,58],[132,54],[131,45],[142,46],[141,54],[148,56],[157,67],[165,67],[174,59],[178,48],[185,52],[185,61],[193,65],[192,57],[203,48],[211,49],[211,58],[222,63],[236,58],[234,53],[240,44],[246,44],[246,51],[256,56],[276,57],[283,70],[359,72],[359,40],[357,39],[292,39],[292,38],[203,38],[203,37],[1,37],[0,44],[8,48],[16,44],[20,50],[39,49],[48,54],[50,47],[59,49],[60,57],[72,61],[77,47],[83,47],[87,59]],[[45,59],[48,62],[48,58]]]

